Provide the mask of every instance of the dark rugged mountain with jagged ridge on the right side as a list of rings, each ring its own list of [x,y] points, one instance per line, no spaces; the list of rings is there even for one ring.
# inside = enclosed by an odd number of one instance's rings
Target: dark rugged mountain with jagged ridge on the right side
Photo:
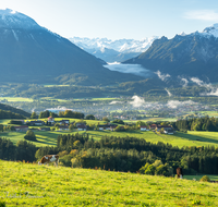
[[[123,63],[142,64],[148,70],[171,76],[208,77],[211,82],[217,82],[218,24],[202,33],[156,39],[147,51]]]

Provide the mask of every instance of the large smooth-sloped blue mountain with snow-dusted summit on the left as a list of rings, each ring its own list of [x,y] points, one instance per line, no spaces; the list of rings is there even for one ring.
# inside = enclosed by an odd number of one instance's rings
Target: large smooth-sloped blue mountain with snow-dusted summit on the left
[[[70,40],[12,10],[0,10],[0,82],[107,85],[142,77],[112,72]]]

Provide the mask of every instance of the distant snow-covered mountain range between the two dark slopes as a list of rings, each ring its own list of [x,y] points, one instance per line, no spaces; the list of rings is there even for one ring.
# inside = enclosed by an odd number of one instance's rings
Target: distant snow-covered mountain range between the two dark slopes
[[[146,51],[152,42],[158,37],[145,38],[142,40],[118,39],[110,40],[107,38],[80,38],[73,37],[70,40],[106,62],[122,62],[124,60],[137,57]]]

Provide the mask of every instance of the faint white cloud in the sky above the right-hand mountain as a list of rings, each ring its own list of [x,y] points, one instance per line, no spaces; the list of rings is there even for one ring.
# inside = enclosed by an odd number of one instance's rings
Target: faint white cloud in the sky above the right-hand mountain
[[[184,14],[189,20],[218,21],[218,13],[214,10],[192,10]]]

